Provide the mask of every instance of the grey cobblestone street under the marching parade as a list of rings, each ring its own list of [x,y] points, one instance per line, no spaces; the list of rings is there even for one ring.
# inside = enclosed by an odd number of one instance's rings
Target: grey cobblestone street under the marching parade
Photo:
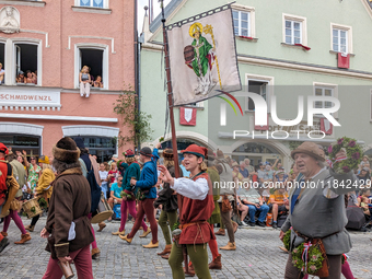
[[[11,222],[9,230],[11,244],[0,254],[1,279],[43,277],[49,259],[49,253],[44,251],[46,241],[39,237],[45,221],[46,218],[39,220],[35,232],[31,233],[33,239],[24,245],[13,244],[14,241],[20,240],[21,233]],[[23,222],[26,225],[31,220],[23,218]],[[142,244],[150,242],[151,234],[147,239],[139,239],[136,235],[133,242],[128,245],[118,236],[112,235],[118,226],[118,222],[111,222],[103,232],[96,232],[101,257],[93,260],[94,278],[172,278],[167,260],[156,255],[156,252],[162,251],[165,245],[160,229],[160,248],[146,249],[142,248]],[[127,223],[127,232],[131,226],[132,223]],[[2,225],[0,228],[2,229]],[[96,224],[94,229],[97,230]],[[354,277],[371,279],[372,233],[351,232],[350,234],[353,248],[348,255]],[[278,235],[279,231],[271,228],[239,229],[235,234],[237,249],[221,251],[223,268],[211,271],[212,278],[283,278],[287,254],[278,248],[281,245]],[[228,236],[217,237],[219,246],[228,243]],[[209,260],[211,260],[210,253]]]

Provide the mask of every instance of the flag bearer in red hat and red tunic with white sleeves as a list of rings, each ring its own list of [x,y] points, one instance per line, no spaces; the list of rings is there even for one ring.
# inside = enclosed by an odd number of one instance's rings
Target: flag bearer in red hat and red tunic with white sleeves
[[[204,163],[207,149],[190,144],[182,153],[185,158],[185,167],[190,172],[190,178],[174,178],[165,166],[159,166],[163,182],[168,183],[172,189],[184,196],[183,206],[179,210],[179,229],[182,233],[179,240],[172,245],[168,263],[173,278],[185,278],[185,272],[182,268],[184,260],[183,247],[179,244],[186,245],[197,277],[210,279],[206,244],[211,239],[216,240],[216,236],[207,222],[214,209],[212,185],[206,172],[207,166]]]

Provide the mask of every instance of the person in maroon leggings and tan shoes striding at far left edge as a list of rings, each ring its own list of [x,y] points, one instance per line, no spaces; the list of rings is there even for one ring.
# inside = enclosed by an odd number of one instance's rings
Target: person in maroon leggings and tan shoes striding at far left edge
[[[0,154],[4,154],[4,153],[0,152]],[[13,164],[16,164],[16,163],[20,164],[20,162],[18,162],[15,160],[16,156],[15,156],[14,153],[10,153],[10,154],[8,153],[7,158],[9,155],[10,155],[10,160],[13,161]],[[0,158],[0,160],[1,160],[1,158]],[[16,170],[19,167],[14,167],[14,168]],[[21,165],[21,168],[23,168],[22,165]],[[20,171],[21,171],[21,168],[20,168]],[[18,173],[18,170],[16,170],[16,173]],[[26,230],[24,229],[22,219],[20,218],[20,216],[18,213],[18,210],[21,209],[20,199],[22,197],[22,189],[20,189],[20,185],[19,185],[18,181],[15,179],[16,177],[13,176],[12,178],[14,179],[14,182],[16,184],[15,186],[18,186],[18,189],[16,189],[15,195],[13,197],[10,197],[10,195],[8,195],[8,200],[10,200],[11,202],[10,202],[10,208],[9,208],[9,214],[4,218],[4,224],[3,224],[3,228],[2,228],[1,234],[3,236],[8,236],[8,229],[9,229],[10,221],[12,219],[14,221],[14,223],[16,224],[16,226],[21,231],[21,240],[18,241],[18,242],[14,242],[14,244],[24,244],[25,242],[31,241],[31,236],[30,236],[30,233],[27,233]]]

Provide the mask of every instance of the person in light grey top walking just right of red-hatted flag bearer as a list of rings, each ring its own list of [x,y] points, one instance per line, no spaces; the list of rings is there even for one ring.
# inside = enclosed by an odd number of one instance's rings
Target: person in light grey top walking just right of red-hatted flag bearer
[[[222,152],[222,151],[220,151]],[[234,201],[233,189],[233,172],[225,160],[221,160],[222,173],[220,174],[220,199],[218,200],[221,213],[221,229],[216,234],[224,235],[224,228],[228,229],[229,243],[228,245],[220,247],[220,249],[236,249],[234,233],[237,230],[237,223],[231,220],[232,207],[231,202]],[[235,166],[235,164],[233,164]],[[235,167],[236,168],[236,167]],[[222,204],[230,205],[230,209],[224,208],[222,210]]]

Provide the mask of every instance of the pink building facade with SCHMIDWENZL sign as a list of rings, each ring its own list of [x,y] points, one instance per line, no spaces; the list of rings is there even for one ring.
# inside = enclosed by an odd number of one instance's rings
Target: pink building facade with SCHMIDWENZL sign
[[[84,138],[100,162],[121,153],[127,133],[114,103],[135,84],[135,1],[0,1],[0,141],[51,155],[61,137]],[[90,68],[102,88],[80,95]],[[31,75],[24,80],[23,75]],[[98,83],[97,83],[98,84]]]

